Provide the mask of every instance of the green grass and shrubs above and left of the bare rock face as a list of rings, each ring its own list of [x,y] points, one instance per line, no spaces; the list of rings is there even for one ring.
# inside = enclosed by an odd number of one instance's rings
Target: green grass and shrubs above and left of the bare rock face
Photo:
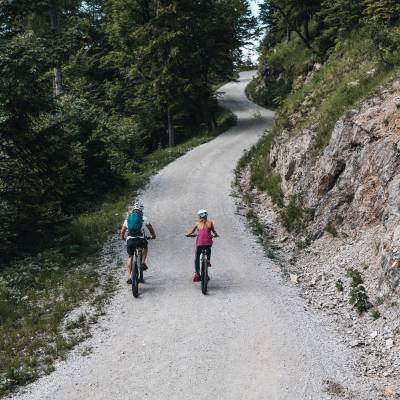
[[[393,29],[400,35],[399,27]],[[318,157],[329,143],[336,122],[392,80],[400,71],[399,63],[397,66],[385,65],[377,44],[366,30],[354,32],[338,42],[326,62],[307,80],[296,79],[299,75],[304,78],[312,62],[309,50],[300,41],[278,44],[262,54],[261,65],[269,67],[268,84],[260,89],[259,82],[252,81],[246,92],[261,105],[279,107],[272,132],[264,136],[240,163],[250,165],[252,187],[268,193],[280,209],[283,225],[289,231],[300,232],[305,228],[306,212],[298,197],[285,201],[282,178],[271,166],[270,152],[275,139],[284,129],[289,130],[290,136],[305,128],[311,129],[315,138],[310,157]],[[400,55],[398,58],[400,62]],[[295,114],[297,118],[289,118]],[[243,167],[240,163],[239,169]],[[349,193],[345,201],[351,203],[353,197],[354,194]],[[332,223],[325,230],[334,237],[338,234]]]

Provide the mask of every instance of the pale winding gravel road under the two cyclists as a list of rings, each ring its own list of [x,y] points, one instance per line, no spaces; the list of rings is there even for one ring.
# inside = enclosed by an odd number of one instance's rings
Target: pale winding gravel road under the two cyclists
[[[333,398],[326,380],[363,398],[338,338],[235,214],[232,171],[273,118],[246,99],[250,78],[221,89],[237,126],[164,168],[143,192],[158,240],[139,299],[121,267],[123,283],[85,343],[92,352],[71,353],[14,399],[321,400]],[[192,283],[194,241],[184,237],[199,208],[221,235],[207,296]]]

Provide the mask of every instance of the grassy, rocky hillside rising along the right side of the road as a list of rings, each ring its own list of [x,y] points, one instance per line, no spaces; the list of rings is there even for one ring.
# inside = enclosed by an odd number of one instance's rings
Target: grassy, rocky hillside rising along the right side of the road
[[[360,350],[383,398],[397,398],[400,28],[380,22],[342,31],[319,54],[295,32],[267,32],[247,95],[275,108],[276,121],[242,158],[237,183],[268,254]],[[324,35],[315,31],[311,47]]]

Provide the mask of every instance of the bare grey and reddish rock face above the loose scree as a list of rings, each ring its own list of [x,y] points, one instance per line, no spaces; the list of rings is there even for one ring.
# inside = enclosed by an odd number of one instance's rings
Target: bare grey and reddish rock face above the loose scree
[[[377,237],[387,290],[400,284],[400,79],[336,123],[329,144],[315,152],[313,128],[284,131],[271,150],[287,201],[300,199],[308,235],[327,226],[344,236],[381,226]],[[311,111],[311,110],[310,110]]]

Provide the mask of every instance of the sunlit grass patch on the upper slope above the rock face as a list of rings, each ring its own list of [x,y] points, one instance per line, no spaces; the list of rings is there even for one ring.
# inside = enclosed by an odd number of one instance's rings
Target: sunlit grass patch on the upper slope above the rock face
[[[336,45],[319,72],[287,96],[278,113],[278,125],[289,127],[292,134],[314,126],[315,148],[321,151],[329,143],[336,122],[398,72],[398,67],[381,62],[367,32],[355,32]],[[311,113],[312,107],[315,111]],[[302,117],[291,127],[287,116],[293,113]]]

